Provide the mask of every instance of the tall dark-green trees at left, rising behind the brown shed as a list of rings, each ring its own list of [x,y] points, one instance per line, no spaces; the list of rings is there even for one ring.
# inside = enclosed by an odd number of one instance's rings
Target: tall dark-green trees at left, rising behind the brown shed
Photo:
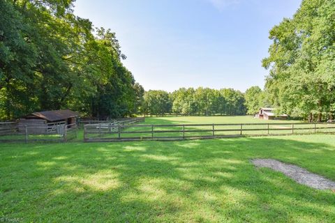
[[[0,118],[62,108],[137,112],[144,90],[122,64],[115,33],[75,16],[73,2],[0,1]]]

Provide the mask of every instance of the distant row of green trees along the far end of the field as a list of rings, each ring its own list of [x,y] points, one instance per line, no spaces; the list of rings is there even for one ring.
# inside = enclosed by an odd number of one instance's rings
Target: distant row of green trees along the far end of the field
[[[147,91],[142,102],[144,115],[243,115],[246,114],[244,94],[234,89],[185,89],[172,93]]]

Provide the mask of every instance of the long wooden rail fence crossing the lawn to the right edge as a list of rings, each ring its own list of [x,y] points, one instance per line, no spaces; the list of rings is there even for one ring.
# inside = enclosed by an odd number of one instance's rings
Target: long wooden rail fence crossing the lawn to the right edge
[[[335,123],[239,123],[84,126],[84,141],[211,139],[222,137],[335,133]]]

